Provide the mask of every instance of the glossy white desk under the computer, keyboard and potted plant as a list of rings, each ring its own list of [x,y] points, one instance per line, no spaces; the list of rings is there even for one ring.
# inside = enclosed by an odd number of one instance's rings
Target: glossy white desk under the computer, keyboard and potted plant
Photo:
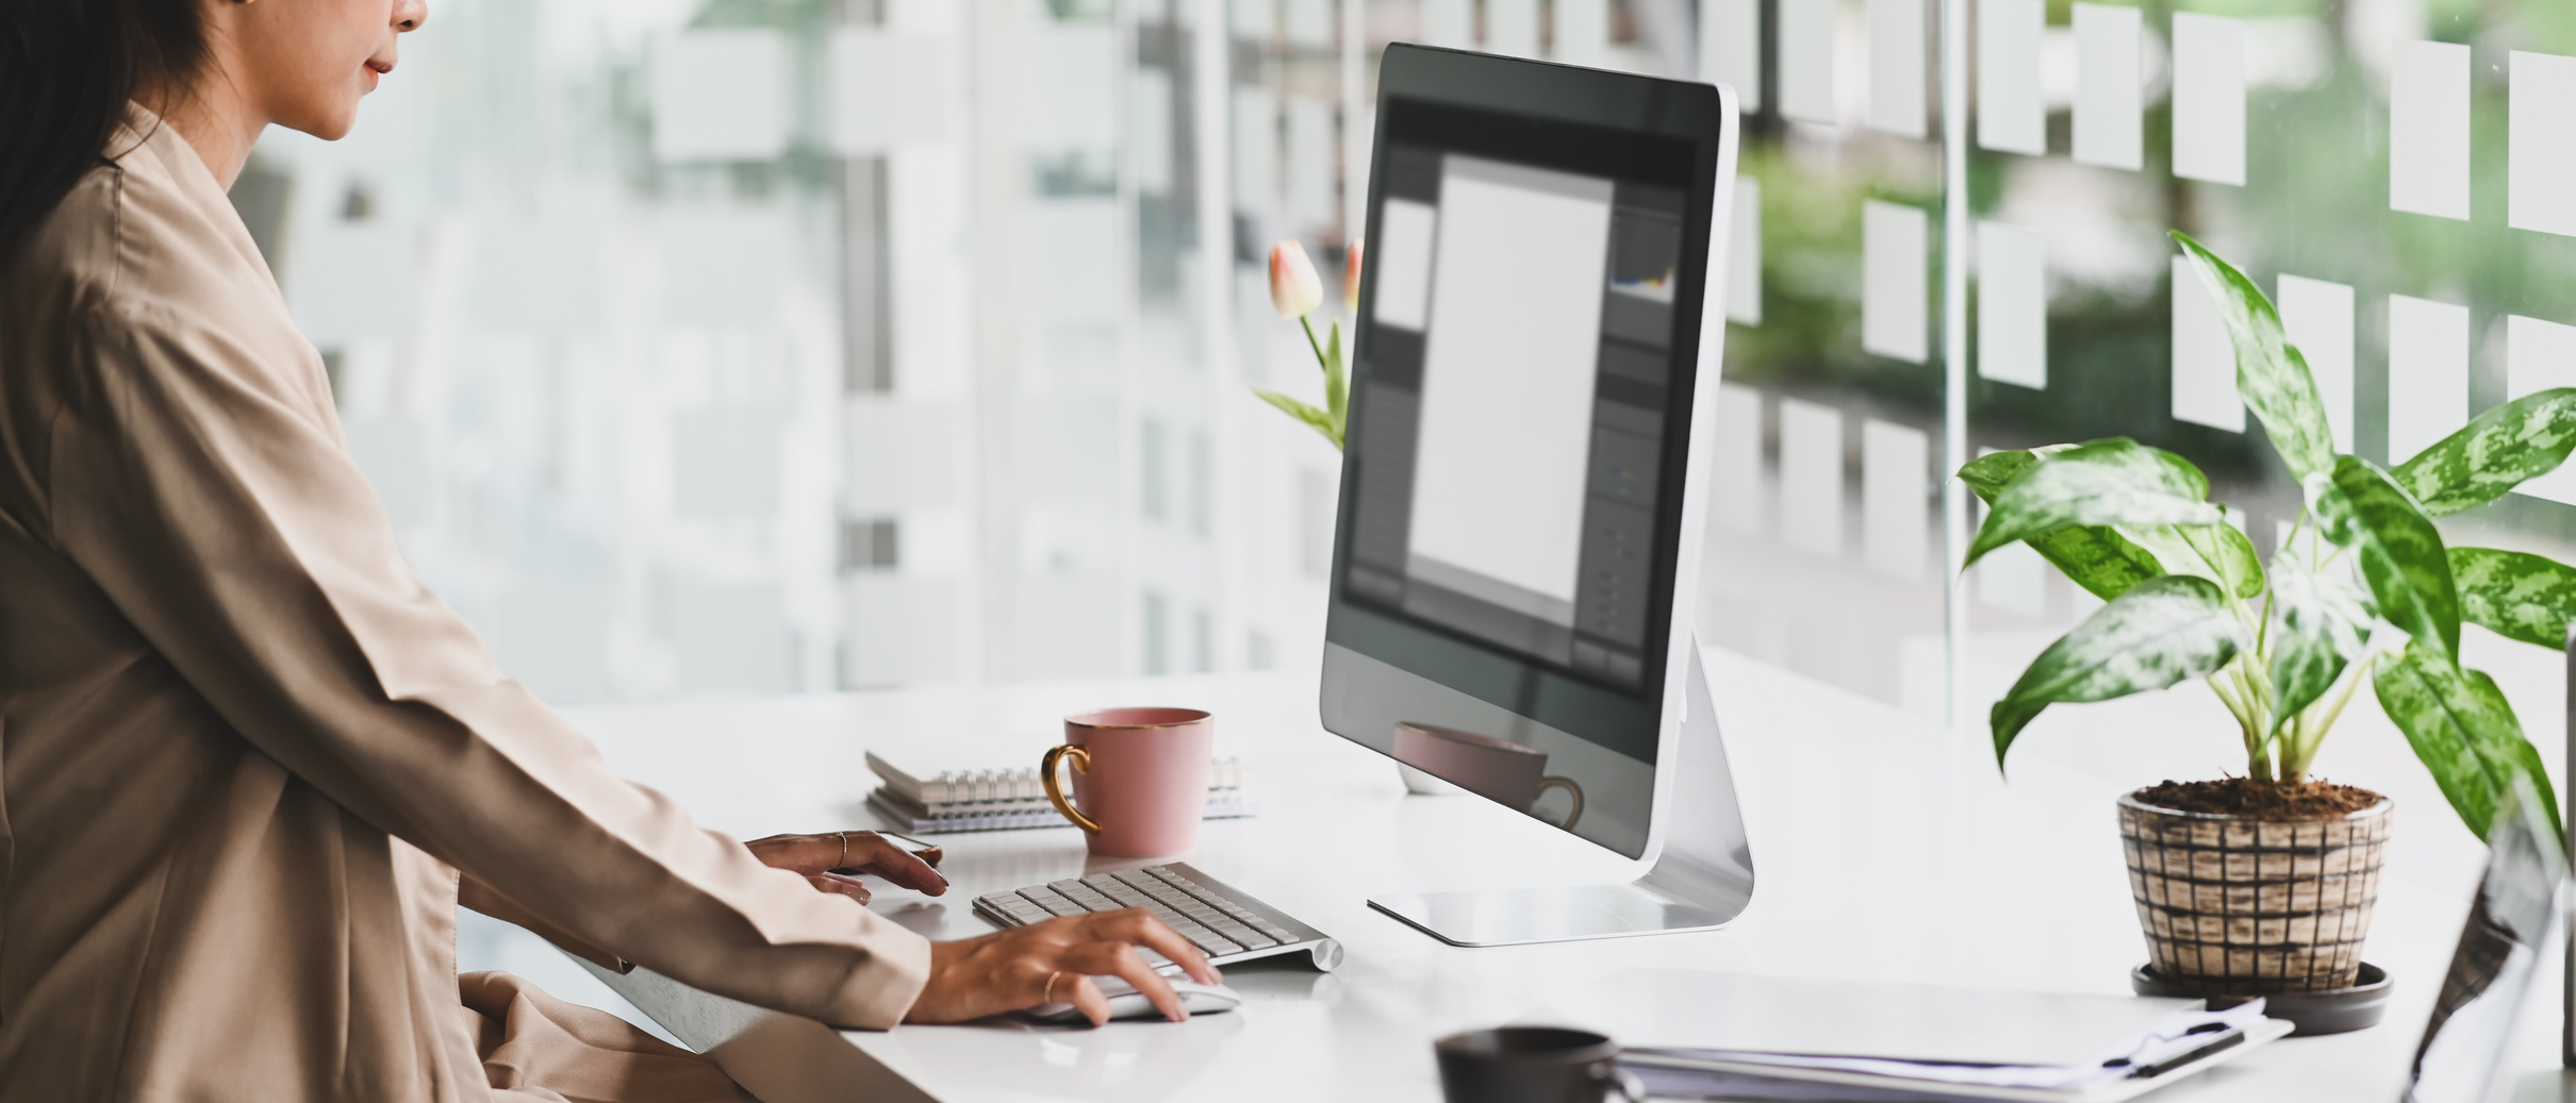
[[[1048,733],[1082,707],[1211,707],[1221,748],[1244,753],[1255,771],[1262,815],[1208,823],[1188,861],[1347,949],[1334,974],[1231,969],[1229,982],[1249,998],[1242,1013],[1100,1031],[994,1021],[832,1034],[649,974],[603,980],[683,1041],[714,1046],[770,1103],[1435,1100],[1430,1039],[1502,1023],[1631,967],[2128,990],[2143,946],[2112,797],[2151,779],[2017,753],[2007,787],[1973,740],[1839,689],[1728,653],[1710,653],[1710,679],[1752,830],[1752,910],[1713,933],[1512,949],[1443,946],[1368,910],[1365,897],[1538,884],[1597,872],[1597,859],[1473,797],[1406,797],[1394,766],[1316,728],[1311,676],[577,710],[618,771],[750,838],[873,825],[858,807],[873,787],[860,761],[871,733],[961,722]],[[2447,815],[2401,812],[2414,815],[2401,833]],[[1144,864],[1087,861],[1072,828],[940,841],[956,882],[943,900],[881,890],[873,905],[935,938],[989,931],[971,913],[981,892]],[[2385,1026],[2290,1039],[2154,1098],[2393,1100],[2463,915],[2460,897],[2391,879],[2367,949],[2398,980]],[[2555,962],[2543,969],[2558,974]],[[2558,1072],[2555,1008],[2550,980],[2512,1057],[2517,1100],[2576,1098],[2576,1077]]]

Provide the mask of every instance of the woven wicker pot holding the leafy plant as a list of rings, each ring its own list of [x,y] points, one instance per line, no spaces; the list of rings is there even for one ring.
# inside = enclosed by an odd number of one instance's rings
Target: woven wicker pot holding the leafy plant
[[[2148,964],[2213,995],[2354,987],[2393,807],[2269,823],[2120,797]]]

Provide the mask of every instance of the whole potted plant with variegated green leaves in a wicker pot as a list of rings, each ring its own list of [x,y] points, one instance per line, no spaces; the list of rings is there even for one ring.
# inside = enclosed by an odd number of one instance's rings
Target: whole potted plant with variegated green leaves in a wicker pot
[[[2136,440],[1968,463],[1986,501],[1965,563],[2025,543],[2107,604],[2048,645],[1994,702],[1994,758],[2048,704],[2205,679],[2236,717],[2246,774],[2120,797],[2148,972],[2182,992],[2334,992],[2362,977],[2391,802],[2308,776],[2344,707],[2372,697],[2486,838],[2527,776],[2555,823],[2540,751],[2496,681],[2460,663],[2460,622],[2566,645],[2576,571],[2540,555],[2445,548],[2434,517],[2499,499],[2576,447],[2576,388],[2478,417],[2380,468],[2336,455],[2308,365],[2251,280],[2174,234],[2221,303],[2236,391],[2298,478],[2303,509],[2262,563],[2208,501],[2208,478]],[[2375,969],[2372,969],[2375,972]]]

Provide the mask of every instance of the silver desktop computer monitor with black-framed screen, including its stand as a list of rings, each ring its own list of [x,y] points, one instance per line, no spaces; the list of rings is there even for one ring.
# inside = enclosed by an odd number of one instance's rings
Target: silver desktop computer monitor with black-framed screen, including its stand
[[[1396,44],[1370,165],[1324,728],[1643,874],[1370,905],[1453,944],[1726,923],[1690,609],[1734,93]]]

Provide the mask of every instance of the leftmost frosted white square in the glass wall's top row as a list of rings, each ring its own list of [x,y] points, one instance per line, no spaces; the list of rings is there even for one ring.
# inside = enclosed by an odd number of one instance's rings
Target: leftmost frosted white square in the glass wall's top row
[[[680,31],[652,80],[654,157],[765,162],[788,149],[788,44],[778,31]]]

